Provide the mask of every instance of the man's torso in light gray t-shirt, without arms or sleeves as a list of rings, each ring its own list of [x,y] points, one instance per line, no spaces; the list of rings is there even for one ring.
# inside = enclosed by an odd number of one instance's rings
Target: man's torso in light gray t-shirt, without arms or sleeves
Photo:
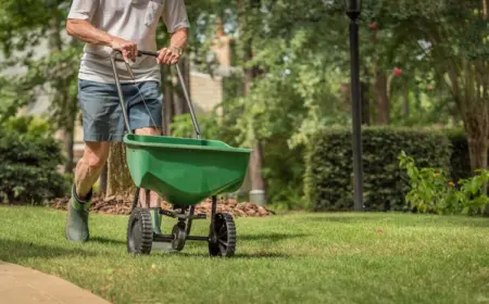
[[[164,1],[168,0],[98,0],[90,22],[110,35],[136,42],[140,50],[156,51],[156,27]],[[109,59],[111,52],[110,47],[87,43],[78,77],[98,83],[114,83]],[[117,66],[121,81],[130,81],[125,64],[118,62]],[[137,81],[160,81],[160,67],[154,58],[137,58],[130,66]]]

